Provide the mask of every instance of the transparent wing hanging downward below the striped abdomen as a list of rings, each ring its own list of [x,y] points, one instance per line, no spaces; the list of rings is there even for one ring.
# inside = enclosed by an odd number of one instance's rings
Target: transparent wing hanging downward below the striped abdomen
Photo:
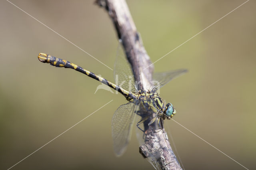
[[[138,108],[138,101],[126,103],[119,106],[112,117],[112,138],[116,156],[121,156],[126,150]]]

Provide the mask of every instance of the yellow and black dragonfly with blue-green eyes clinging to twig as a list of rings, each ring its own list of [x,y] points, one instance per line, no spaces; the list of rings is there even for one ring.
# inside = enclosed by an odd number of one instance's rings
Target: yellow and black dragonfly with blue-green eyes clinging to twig
[[[120,56],[120,55],[119,55]],[[114,112],[112,117],[112,138],[114,143],[114,152],[116,156],[121,156],[130,141],[132,127],[135,121],[135,116],[139,115],[141,119],[137,122],[136,126],[143,133],[153,125],[162,128],[162,120],[171,119],[176,114],[176,109],[171,103],[164,104],[162,98],[158,95],[157,91],[163,87],[170,80],[187,72],[186,69],[179,69],[174,71],[167,71],[162,73],[154,73],[153,79],[157,81],[157,85],[151,85],[147,90],[140,89],[136,85],[128,61],[124,61],[121,57],[117,57],[114,75],[119,72],[118,80],[114,77],[116,84],[104,79],[103,77],[92,73],[74,63],[67,60],[48,55],[46,53],[39,53],[39,61],[42,63],[50,63],[55,67],[64,67],[74,69],[91,77],[101,83],[109,86],[110,88],[122,94],[128,103],[120,105]],[[122,60],[122,61],[121,61]],[[122,64],[120,64],[122,63]],[[128,72],[128,73],[127,73]],[[128,89],[128,84],[118,85],[120,82],[128,81],[132,83],[133,89]],[[144,128],[141,125],[144,124]]]

